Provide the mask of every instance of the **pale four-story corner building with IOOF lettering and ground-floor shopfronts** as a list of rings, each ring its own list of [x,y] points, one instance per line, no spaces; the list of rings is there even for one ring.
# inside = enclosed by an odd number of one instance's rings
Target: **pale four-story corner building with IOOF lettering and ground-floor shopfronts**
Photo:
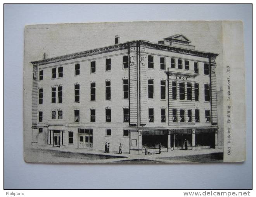
[[[32,144],[140,154],[218,148],[216,57],[182,34],[31,62]]]

